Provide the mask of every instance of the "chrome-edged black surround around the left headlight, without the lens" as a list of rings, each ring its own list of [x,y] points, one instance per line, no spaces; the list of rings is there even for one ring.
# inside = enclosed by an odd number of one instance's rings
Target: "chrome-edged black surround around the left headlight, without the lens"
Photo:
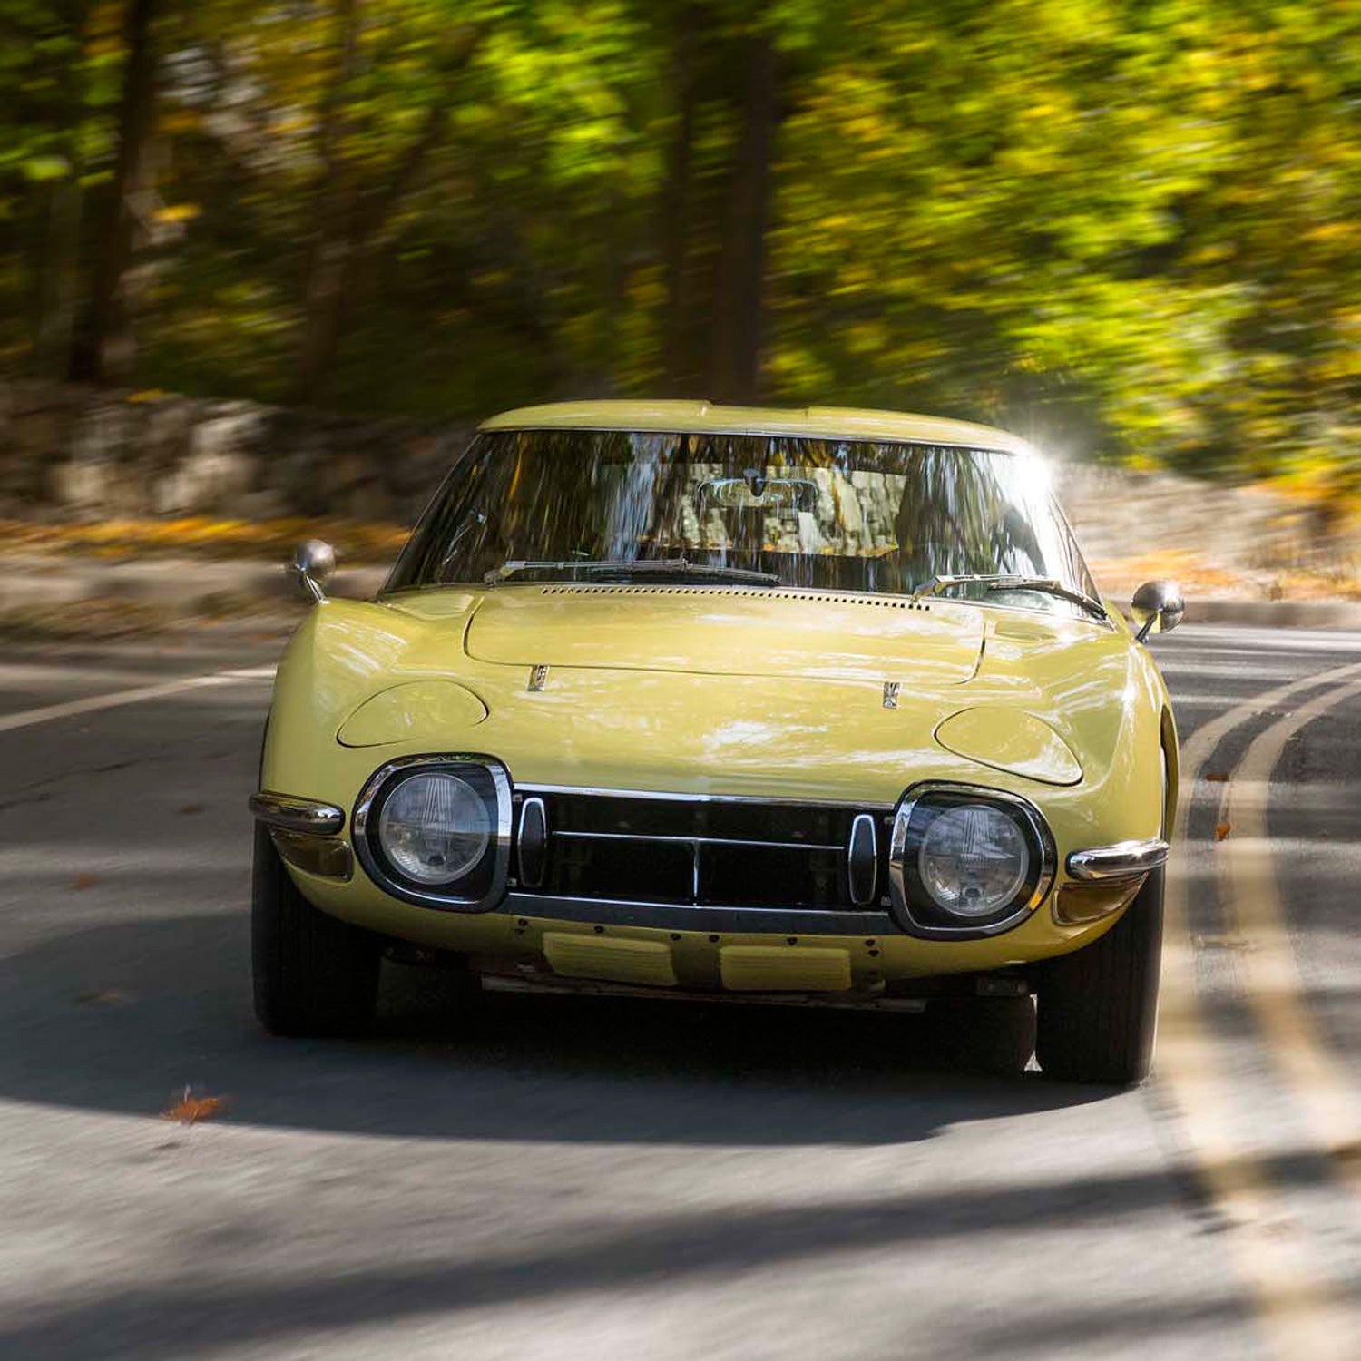
[[[384,803],[418,774],[459,776],[479,793],[491,822],[491,837],[476,864],[448,886],[407,878],[382,848],[378,827]],[[510,776],[494,757],[468,753],[401,757],[381,765],[365,783],[350,823],[354,851],[369,878],[395,898],[445,912],[489,912],[505,897],[510,868]]]

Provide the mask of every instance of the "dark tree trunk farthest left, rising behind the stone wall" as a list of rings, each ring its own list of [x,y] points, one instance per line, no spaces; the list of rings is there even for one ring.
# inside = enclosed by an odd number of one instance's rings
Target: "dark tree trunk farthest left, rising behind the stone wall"
[[[128,53],[118,105],[118,159],[108,208],[99,223],[94,283],[71,351],[69,373],[86,382],[127,381],[136,361],[128,275],[137,244],[137,195],[155,120],[157,0],[128,0]]]

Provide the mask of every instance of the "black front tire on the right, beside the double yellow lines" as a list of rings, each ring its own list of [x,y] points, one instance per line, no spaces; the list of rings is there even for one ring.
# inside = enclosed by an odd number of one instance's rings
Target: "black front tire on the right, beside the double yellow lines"
[[[1135,1086],[1149,1075],[1162,968],[1162,870],[1094,945],[1045,965],[1036,1057],[1059,1082]]]

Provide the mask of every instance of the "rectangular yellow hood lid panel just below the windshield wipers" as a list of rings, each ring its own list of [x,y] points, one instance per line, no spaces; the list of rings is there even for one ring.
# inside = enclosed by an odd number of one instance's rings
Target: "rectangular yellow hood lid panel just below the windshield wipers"
[[[419,604],[412,603],[419,612]],[[976,608],[743,587],[499,588],[464,636],[476,661],[964,685],[981,657]]]

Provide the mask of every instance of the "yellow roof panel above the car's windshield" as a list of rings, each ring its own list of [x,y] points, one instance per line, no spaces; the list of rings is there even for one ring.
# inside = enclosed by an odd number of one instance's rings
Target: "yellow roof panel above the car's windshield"
[[[479,430],[657,430],[806,436],[818,440],[905,440],[1033,453],[1019,436],[969,421],[857,407],[728,407],[710,401],[555,401],[483,421]]]

